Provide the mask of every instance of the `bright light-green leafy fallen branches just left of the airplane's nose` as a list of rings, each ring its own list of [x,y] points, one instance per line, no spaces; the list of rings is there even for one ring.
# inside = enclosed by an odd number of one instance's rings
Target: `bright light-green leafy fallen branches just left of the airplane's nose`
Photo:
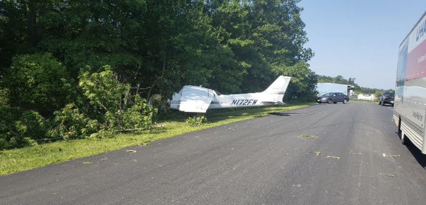
[[[91,106],[87,107],[87,113],[74,103],[56,111],[54,122],[58,126],[49,130],[50,137],[98,139],[115,132],[150,127],[157,110],[147,106],[139,95],[130,97],[130,85],[120,83],[109,66],[104,69],[92,74],[86,71],[78,77],[78,84]]]

